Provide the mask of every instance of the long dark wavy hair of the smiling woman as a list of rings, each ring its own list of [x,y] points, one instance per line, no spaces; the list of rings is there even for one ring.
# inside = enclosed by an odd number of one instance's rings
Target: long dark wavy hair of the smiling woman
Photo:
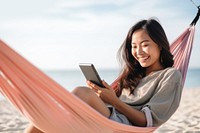
[[[167,36],[160,23],[155,19],[141,20],[137,22],[130,28],[127,37],[118,51],[119,61],[123,67],[118,95],[121,94],[123,88],[128,88],[130,89],[130,92],[133,93],[134,88],[146,75],[146,69],[139,64],[131,53],[132,35],[139,29],[144,29],[150,38],[161,48],[160,63],[163,68],[171,67],[174,64]]]

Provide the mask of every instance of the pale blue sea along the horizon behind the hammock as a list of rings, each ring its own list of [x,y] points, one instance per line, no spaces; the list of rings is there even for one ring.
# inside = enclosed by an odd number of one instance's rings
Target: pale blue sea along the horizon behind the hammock
[[[84,86],[85,77],[81,70],[44,70],[50,78],[55,80],[68,91],[72,91],[77,86]],[[98,73],[101,79],[111,84],[119,75],[116,69],[100,69]],[[189,68],[186,76],[184,89],[200,89],[200,68]],[[0,94],[0,100],[4,97]]]

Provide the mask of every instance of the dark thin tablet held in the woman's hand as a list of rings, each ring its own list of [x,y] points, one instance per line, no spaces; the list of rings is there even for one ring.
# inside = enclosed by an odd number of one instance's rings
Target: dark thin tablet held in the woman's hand
[[[79,67],[80,67],[81,71],[83,72],[83,75],[85,76],[85,78],[87,80],[95,83],[96,85],[98,85],[100,87],[104,87],[103,84],[102,84],[102,80],[101,80],[99,74],[97,73],[93,64],[91,64],[91,63],[80,63]]]

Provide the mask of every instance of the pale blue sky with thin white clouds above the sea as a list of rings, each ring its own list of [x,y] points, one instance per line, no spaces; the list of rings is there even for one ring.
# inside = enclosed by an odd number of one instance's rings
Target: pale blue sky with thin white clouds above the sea
[[[190,0],[0,0],[0,39],[44,70],[86,62],[117,68],[117,50],[136,22],[158,18],[173,42],[196,13]],[[197,22],[190,68],[200,67],[199,36]]]

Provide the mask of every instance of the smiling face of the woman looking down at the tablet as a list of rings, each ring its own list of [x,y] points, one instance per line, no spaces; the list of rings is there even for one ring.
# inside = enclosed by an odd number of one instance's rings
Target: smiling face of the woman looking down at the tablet
[[[145,30],[140,29],[133,33],[131,45],[132,55],[149,73],[162,68],[160,48]]]

